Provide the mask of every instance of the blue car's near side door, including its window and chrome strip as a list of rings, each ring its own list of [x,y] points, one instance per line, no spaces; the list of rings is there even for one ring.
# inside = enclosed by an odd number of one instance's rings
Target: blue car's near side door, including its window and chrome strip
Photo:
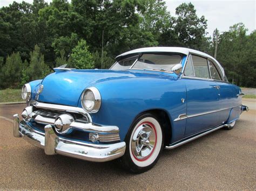
[[[207,58],[189,55],[183,80],[187,90],[185,137],[220,125],[220,90],[211,79]]]

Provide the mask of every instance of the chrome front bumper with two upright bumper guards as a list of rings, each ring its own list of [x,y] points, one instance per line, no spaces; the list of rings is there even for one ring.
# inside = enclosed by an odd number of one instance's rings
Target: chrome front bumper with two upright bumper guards
[[[25,121],[14,115],[14,137],[23,137],[32,145],[44,148],[45,154],[62,154],[68,157],[104,162],[122,157],[125,142],[115,144],[90,144],[58,137],[51,125],[46,125],[45,133],[31,128]]]

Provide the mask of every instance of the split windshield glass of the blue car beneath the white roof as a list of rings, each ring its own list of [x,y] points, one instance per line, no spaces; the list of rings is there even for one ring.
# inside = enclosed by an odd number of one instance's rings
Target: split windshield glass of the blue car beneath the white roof
[[[138,56],[133,56],[119,60],[111,69],[130,69],[137,58]],[[138,60],[132,66],[132,69],[155,69],[171,71],[171,68],[177,63],[180,63],[180,61],[181,55],[177,54],[145,53],[138,58]]]

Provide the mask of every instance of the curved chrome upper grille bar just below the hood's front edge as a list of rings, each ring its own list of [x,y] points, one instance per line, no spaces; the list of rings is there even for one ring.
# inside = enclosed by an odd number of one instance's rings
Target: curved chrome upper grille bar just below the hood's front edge
[[[41,109],[49,109],[49,110],[57,110],[57,111],[65,111],[65,112],[75,112],[77,114],[84,115],[85,117],[88,118],[88,121],[90,123],[92,122],[91,116],[83,108],[72,107],[72,106],[68,106],[68,105],[41,103],[41,102],[36,102],[33,104],[33,106],[35,106],[36,108],[41,108]]]

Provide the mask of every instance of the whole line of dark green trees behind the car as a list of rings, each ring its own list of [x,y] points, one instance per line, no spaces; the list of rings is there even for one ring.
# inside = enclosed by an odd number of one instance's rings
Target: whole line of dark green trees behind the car
[[[164,1],[154,0],[13,2],[0,8],[0,88],[42,78],[66,63],[100,69],[102,40],[105,69],[118,54],[141,47],[182,46],[212,55],[214,37],[206,37],[206,29],[192,3],[181,3],[174,16]],[[217,59],[240,86],[256,86],[255,40],[255,31],[248,35],[241,24],[219,36]]]

